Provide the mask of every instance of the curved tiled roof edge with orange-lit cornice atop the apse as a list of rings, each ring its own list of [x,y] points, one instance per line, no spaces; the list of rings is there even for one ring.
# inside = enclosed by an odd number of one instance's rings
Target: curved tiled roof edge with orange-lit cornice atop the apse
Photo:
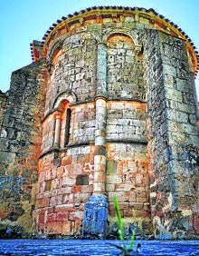
[[[62,19],[58,19],[56,23],[53,23],[43,35],[43,41],[39,42],[39,50],[38,47],[34,47],[34,44],[31,44],[33,61],[38,60],[46,54],[50,41],[55,34],[58,34],[58,31],[63,30],[63,27],[65,30],[69,30],[71,25],[77,23],[83,24],[84,21],[89,19],[97,19],[99,17],[101,20],[106,17],[118,19],[119,16],[137,16],[137,21],[139,21],[139,17],[146,19],[151,26],[155,27],[155,29],[165,31],[168,34],[173,34],[184,39],[188,52],[192,58],[194,74],[197,74],[199,70],[199,55],[189,36],[185,34],[185,32],[178,25],[175,25],[165,16],[159,15],[154,9],[146,9],[142,7],[93,6],[85,10],[81,10],[80,12],[75,12],[73,15],[62,16]],[[39,54],[39,52],[43,52],[43,54]]]

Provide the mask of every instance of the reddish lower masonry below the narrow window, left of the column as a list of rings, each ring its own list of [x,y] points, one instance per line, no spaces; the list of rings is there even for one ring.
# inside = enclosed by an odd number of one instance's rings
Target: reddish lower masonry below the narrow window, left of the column
[[[93,146],[69,147],[40,160],[36,210],[36,233],[80,236],[84,205],[93,190]]]

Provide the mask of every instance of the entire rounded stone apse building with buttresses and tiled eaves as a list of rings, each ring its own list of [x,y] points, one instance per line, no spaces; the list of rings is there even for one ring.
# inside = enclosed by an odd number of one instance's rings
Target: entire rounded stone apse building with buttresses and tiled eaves
[[[39,235],[198,238],[189,37],[153,9],[92,7],[31,44],[1,94],[1,222]]]

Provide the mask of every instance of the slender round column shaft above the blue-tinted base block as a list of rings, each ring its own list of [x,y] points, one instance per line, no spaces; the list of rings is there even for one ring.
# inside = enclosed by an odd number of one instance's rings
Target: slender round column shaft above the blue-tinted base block
[[[106,184],[107,46],[98,44],[94,193],[104,193]]]

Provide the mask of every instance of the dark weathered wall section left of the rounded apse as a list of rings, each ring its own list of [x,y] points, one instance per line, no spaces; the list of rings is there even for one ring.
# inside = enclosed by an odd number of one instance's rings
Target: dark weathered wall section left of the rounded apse
[[[47,81],[44,60],[12,74],[0,138],[1,221],[31,231]]]

